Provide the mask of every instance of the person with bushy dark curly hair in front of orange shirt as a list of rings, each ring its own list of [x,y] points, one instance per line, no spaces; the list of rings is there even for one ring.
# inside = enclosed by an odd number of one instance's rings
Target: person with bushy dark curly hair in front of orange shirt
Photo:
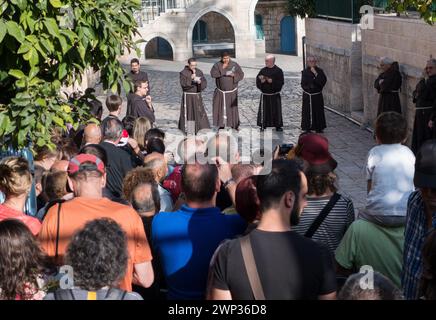
[[[142,300],[117,289],[127,269],[127,237],[112,219],[88,222],[68,245],[65,264],[72,267],[73,287],[49,293],[45,300]]]

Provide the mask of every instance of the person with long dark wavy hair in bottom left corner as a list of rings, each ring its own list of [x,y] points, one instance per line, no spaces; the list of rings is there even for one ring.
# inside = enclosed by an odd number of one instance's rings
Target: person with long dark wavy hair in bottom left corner
[[[42,300],[48,259],[21,221],[0,222],[0,300]]]

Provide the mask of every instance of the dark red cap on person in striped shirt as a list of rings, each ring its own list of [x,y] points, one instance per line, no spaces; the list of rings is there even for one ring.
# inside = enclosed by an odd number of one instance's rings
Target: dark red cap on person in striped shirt
[[[326,137],[308,133],[298,140],[299,156],[309,163],[308,171],[318,174],[332,172],[338,166],[329,152],[329,141]]]

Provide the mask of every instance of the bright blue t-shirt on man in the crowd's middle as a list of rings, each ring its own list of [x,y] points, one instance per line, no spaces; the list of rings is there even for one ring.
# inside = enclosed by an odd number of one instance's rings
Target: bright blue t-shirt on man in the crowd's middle
[[[224,239],[247,227],[239,215],[219,208],[161,212],[153,218],[152,245],[158,252],[168,285],[168,299],[204,299],[210,259]]]

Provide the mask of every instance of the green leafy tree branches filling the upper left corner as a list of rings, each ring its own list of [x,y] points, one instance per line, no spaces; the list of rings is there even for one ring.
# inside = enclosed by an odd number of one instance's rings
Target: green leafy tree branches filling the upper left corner
[[[88,118],[87,107],[68,104],[60,90],[89,68],[101,72],[103,89],[128,90],[117,57],[137,49],[139,6],[140,0],[0,0],[0,138],[14,147],[28,140],[51,145],[53,127]]]

